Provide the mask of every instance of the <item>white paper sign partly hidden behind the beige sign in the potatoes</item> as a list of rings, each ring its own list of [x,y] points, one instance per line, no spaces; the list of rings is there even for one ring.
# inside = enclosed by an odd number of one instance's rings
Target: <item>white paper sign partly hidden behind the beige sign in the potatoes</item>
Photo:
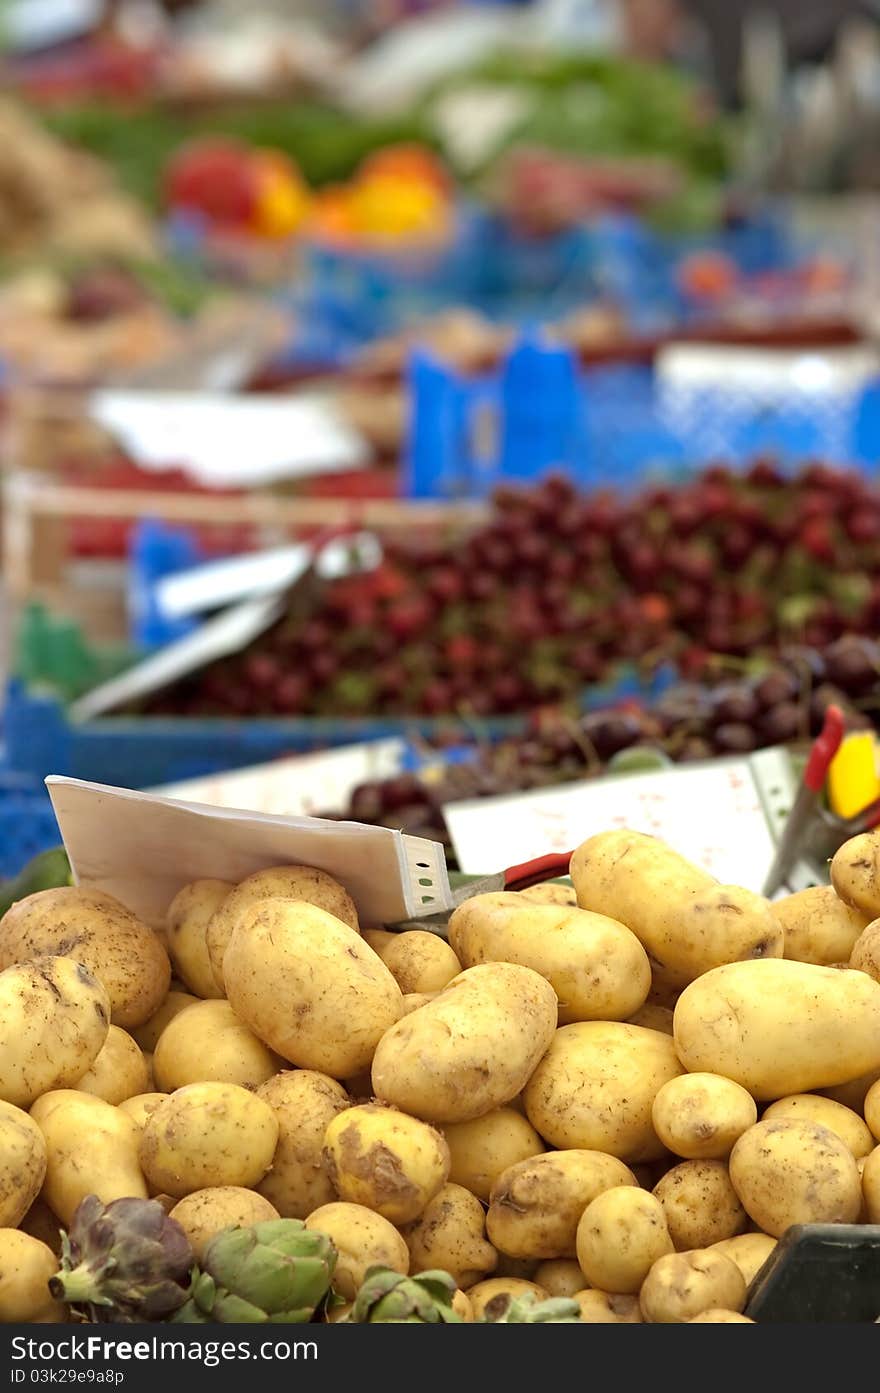
[[[251,808],[287,816],[313,816],[348,802],[352,788],[373,779],[393,779],[404,766],[402,740],[365,741],[322,749],[315,755],[274,759],[269,765],[188,779],[152,791],[163,798],[210,804],[212,808]]]

